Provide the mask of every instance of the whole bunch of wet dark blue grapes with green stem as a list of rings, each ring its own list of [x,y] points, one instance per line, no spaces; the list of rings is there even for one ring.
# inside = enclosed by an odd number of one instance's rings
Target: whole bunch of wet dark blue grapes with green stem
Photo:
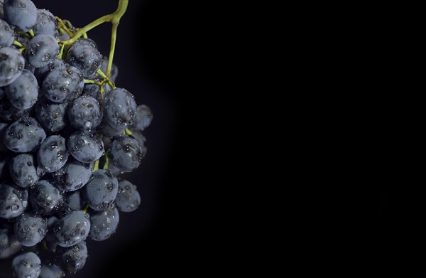
[[[85,240],[107,240],[141,203],[120,175],[141,164],[153,114],[116,87],[112,63],[128,2],[75,28],[30,0],[0,0],[0,259],[15,277],[77,272]],[[108,57],[87,36],[104,22]]]

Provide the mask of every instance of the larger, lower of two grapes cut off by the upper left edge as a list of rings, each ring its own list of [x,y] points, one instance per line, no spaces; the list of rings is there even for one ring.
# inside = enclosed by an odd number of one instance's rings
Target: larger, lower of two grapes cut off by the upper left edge
[[[0,48],[0,87],[15,81],[24,67],[25,59],[21,52],[12,48]]]

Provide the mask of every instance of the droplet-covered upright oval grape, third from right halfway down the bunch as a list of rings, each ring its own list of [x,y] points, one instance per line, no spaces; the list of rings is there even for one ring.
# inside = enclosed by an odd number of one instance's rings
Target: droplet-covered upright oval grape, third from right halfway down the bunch
[[[38,167],[47,173],[61,169],[68,160],[65,138],[52,135],[41,143],[37,153]]]

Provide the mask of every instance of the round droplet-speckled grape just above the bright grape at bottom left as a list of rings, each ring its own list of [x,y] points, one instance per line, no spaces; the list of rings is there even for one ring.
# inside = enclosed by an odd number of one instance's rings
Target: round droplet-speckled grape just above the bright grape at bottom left
[[[48,220],[34,213],[22,213],[16,218],[15,235],[23,246],[31,247],[41,242],[48,233]]]

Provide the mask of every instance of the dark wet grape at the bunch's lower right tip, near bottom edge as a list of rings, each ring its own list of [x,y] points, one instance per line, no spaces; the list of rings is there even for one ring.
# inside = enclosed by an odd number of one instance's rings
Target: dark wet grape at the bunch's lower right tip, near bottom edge
[[[82,241],[72,247],[58,247],[56,260],[67,273],[82,269],[87,260],[86,242]]]

